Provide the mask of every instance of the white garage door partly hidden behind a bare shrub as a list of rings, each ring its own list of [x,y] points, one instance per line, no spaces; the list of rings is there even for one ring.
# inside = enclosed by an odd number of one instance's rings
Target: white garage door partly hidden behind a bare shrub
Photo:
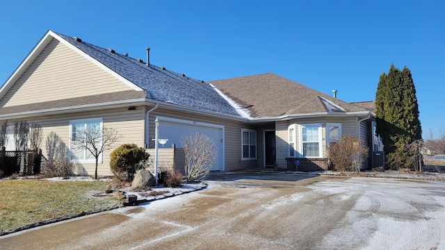
[[[158,126],[158,138],[168,139],[163,146],[159,147],[170,148],[172,144],[175,144],[177,148],[182,148],[181,138],[186,135],[194,135],[196,132],[204,134],[213,138],[217,148],[217,156],[215,165],[211,167],[211,170],[224,170],[224,127],[216,124],[207,124],[202,122],[191,122],[181,119],[171,119],[167,117],[157,117]]]

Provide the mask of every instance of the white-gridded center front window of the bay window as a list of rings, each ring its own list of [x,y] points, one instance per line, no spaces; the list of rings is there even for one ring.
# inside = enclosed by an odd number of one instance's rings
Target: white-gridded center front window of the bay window
[[[321,124],[302,124],[300,145],[303,157],[323,157]]]

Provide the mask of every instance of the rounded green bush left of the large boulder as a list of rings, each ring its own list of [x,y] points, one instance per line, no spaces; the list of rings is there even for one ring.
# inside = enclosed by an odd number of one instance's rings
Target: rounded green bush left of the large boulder
[[[111,152],[111,172],[120,179],[133,181],[136,170],[145,166],[149,156],[145,149],[136,144],[122,144]]]

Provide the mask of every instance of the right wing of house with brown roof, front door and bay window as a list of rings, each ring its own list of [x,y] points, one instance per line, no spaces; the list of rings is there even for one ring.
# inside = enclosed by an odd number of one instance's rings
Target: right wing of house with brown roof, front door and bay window
[[[249,124],[257,125],[260,167],[328,169],[327,148],[343,134],[361,139],[370,151],[382,149],[373,101],[346,103],[272,73],[210,83],[245,107]]]

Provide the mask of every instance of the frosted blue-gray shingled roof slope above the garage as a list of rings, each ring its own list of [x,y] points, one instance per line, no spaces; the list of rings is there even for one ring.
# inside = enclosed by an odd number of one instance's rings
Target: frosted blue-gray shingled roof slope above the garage
[[[77,42],[67,35],[60,33],[57,35],[145,90],[145,96],[148,99],[174,103],[185,108],[240,116],[235,108],[207,83],[155,65],[145,65],[135,58],[112,53],[108,49],[88,42]]]

